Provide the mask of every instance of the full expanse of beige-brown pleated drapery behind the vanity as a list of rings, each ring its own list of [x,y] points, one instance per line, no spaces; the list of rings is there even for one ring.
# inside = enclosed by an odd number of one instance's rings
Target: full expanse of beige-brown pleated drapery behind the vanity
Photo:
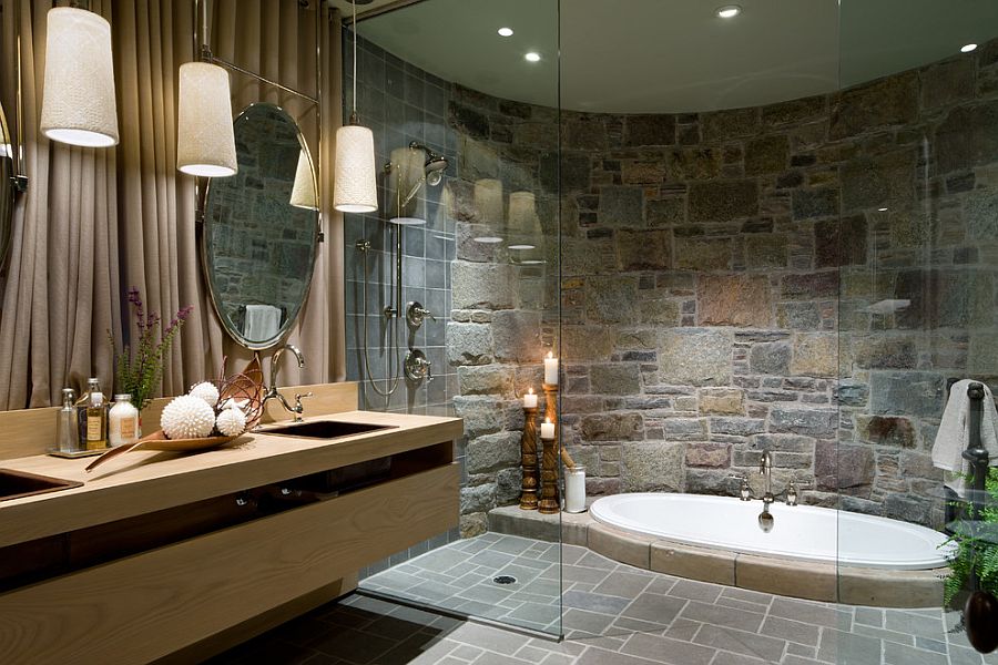
[[[176,171],[176,72],[194,59],[192,0],[93,0],[111,22],[121,143],[78,149],[38,132],[44,74],[45,12],[50,1],[0,0],[2,54],[13,55],[12,2],[21,2],[24,139],[29,191],[19,196],[0,309],[0,409],[57,403],[64,386],[112,378],[108,331],[118,339],[133,325],[124,293],[135,286],[146,309],[170,317],[193,305],[164,371],[164,395],[217,376],[223,356],[237,368],[249,354],[222,330],[201,274],[195,180]],[[212,48],[245,69],[315,95],[317,0],[217,0]],[[322,12],[329,17],[328,12]],[[333,172],[333,137],[340,122],[339,19],[320,21],[319,117],[277,89],[232,74],[233,109],[267,101],[303,127],[320,173]],[[0,94],[13,115],[14,84],[4,71]],[[307,360],[288,382],[345,377],[343,340],[343,221],[333,213],[332,182],[319,178],[325,243],[319,245],[309,299],[289,341]],[[124,324],[122,323],[124,318]]]

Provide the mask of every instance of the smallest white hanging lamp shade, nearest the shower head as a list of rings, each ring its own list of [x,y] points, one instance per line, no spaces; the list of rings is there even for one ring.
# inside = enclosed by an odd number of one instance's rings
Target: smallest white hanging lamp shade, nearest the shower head
[[[373,213],[378,209],[374,162],[374,134],[369,129],[344,125],[336,130],[334,208],[342,213]]]

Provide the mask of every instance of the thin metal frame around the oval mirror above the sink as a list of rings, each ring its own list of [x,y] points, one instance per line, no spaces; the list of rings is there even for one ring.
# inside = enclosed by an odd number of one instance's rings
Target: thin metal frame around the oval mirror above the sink
[[[208,266],[208,219],[207,219],[207,203],[208,196],[211,194],[212,181],[214,178],[204,178],[206,184],[204,185],[203,193],[198,197],[198,217],[201,224],[198,224],[198,231],[201,233],[201,238],[198,239],[198,249],[201,253],[201,270],[204,276],[205,286],[207,287],[208,296],[212,301],[212,308],[215,310],[215,316],[218,317],[218,321],[222,324],[222,329],[233,338],[240,346],[251,350],[251,351],[265,351],[267,349],[272,349],[284,344],[284,340],[291,334],[292,328],[294,328],[295,324],[298,321],[298,317],[302,315],[302,310],[305,308],[305,304],[308,301],[308,296],[312,293],[312,282],[315,278],[315,262],[318,258],[319,245],[323,243],[323,215],[322,215],[322,194],[318,190],[318,174],[316,173],[315,161],[312,158],[312,151],[308,149],[308,142],[305,140],[305,134],[302,132],[302,127],[295,122],[295,119],[292,117],[291,113],[285,111],[282,106],[277,104],[272,104],[269,102],[253,102],[248,104],[245,109],[240,111],[238,115],[233,119],[233,126],[248,113],[252,109],[257,106],[267,106],[269,109],[276,109],[281,111],[287,119],[294,124],[295,131],[298,135],[298,145],[301,145],[302,150],[305,152],[305,156],[308,158],[308,165],[312,167],[312,184],[315,187],[315,197],[318,204],[318,209],[314,211],[315,213],[315,235],[313,243],[313,252],[312,252],[312,263],[308,266],[308,275],[305,283],[305,290],[302,293],[302,304],[298,306],[297,311],[295,311],[294,317],[288,317],[287,321],[277,331],[277,335],[266,341],[251,341],[243,337],[243,335],[234,329],[234,326],[228,325],[228,319],[222,314],[222,309],[218,306],[217,298],[215,296],[215,289],[212,286],[212,274]],[[238,163],[238,152],[236,153],[236,161]],[[288,204],[291,205],[291,204]]]

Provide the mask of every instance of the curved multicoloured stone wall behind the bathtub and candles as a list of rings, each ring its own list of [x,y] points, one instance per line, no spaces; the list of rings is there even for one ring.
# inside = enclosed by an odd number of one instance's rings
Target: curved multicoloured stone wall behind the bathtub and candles
[[[452,93],[462,531],[516,499],[515,399],[559,305],[590,493],[757,491],[770,450],[777,489],[931,521],[947,386],[998,376],[998,44],[770,106],[560,117],[559,154],[551,110]],[[551,207],[547,273],[470,242],[478,177],[560,178],[560,285]]]

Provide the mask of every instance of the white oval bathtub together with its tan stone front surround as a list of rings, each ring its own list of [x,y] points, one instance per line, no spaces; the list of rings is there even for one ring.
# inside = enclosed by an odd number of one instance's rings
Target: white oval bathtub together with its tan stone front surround
[[[785,596],[882,607],[938,607],[948,546],[906,522],[811,505],[700,494],[604,497],[590,508],[588,545],[682,577]]]

